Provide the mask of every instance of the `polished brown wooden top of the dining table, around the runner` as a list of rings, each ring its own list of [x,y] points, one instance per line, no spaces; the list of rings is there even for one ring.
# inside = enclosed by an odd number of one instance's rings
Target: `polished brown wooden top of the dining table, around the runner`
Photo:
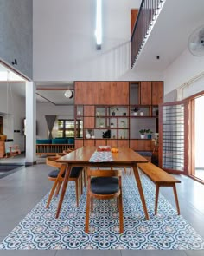
[[[99,164],[91,162],[92,154],[97,151],[96,146],[83,146],[59,158],[57,161],[70,164]],[[105,152],[105,151],[104,151]],[[132,166],[135,163],[147,162],[147,160],[133,149],[128,147],[118,147],[118,153],[112,153],[112,163],[118,166]],[[103,164],[103,163],[101,163]],[[105,162],[104,162],[105,164]],[[106,162],[110,164],[110,162]]]

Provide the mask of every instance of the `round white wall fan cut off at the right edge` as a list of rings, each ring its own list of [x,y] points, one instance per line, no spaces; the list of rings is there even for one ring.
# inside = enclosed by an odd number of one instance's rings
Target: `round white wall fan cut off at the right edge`
[[[189,36],[188,49],[194,56],[204,56],[204,25]]]

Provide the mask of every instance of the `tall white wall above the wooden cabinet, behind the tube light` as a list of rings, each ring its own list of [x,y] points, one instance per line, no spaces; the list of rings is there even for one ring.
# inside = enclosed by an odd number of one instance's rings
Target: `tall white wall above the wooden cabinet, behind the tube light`
[[[152,80],[130,69],[131,9],[141,0],[102,3],[103,43],[96,50],[95,0],[34,1],[35,81]]]

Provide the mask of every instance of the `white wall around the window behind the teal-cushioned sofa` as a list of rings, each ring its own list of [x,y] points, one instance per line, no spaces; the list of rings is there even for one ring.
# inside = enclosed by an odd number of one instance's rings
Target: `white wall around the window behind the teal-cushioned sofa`
[[[36,104],[37,139],[48,139],[48,126],[45,115],[57,115],[57,118],[73,119],[73,106],[54,106],[51,103]],[[54,136],[56,136],[54,134]]]

